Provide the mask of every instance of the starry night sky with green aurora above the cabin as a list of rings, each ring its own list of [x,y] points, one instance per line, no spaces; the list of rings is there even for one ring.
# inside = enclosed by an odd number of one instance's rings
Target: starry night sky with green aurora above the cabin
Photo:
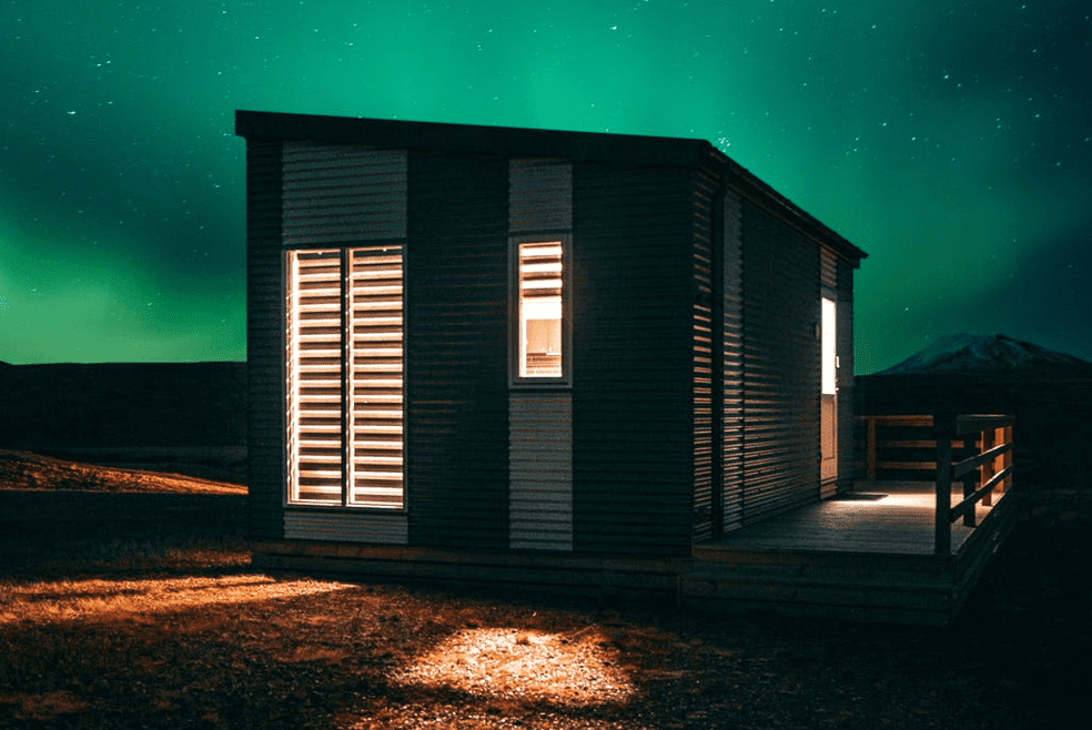
[[[857,372],[1092,359],[1085,0],[0,0],[0,359],[244,359],[234,111],[706,139],[869,253]]]

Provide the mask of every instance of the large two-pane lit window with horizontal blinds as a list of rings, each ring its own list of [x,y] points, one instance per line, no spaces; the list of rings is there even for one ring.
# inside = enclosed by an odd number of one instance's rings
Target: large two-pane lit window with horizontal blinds
[[[402,246],[286,256],[287,503],[402,509]]]

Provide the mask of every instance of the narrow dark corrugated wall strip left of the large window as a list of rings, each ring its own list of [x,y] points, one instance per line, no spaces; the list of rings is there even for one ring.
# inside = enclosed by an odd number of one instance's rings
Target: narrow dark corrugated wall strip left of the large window
[[[246,144],[247,468],[251,537],[284,535],[281,143]]]

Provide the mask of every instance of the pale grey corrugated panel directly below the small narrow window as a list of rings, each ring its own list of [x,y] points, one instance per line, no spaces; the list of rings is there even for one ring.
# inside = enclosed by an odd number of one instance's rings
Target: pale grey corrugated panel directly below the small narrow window
[[[573,549],[573,394],[508,401],[508,546]]]

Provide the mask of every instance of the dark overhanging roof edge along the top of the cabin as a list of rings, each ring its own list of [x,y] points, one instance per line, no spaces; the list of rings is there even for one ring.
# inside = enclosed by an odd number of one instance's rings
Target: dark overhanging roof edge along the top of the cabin
[[[247,140],[367,144],[504,158],[560,158],[576,162],[704,168],[718,175],[721,185],[728,190],[758,204],[809,239],[833,249],[855,267],[860,266],[861,260],[868,256],[705,140],[244,110],[235,112],[235,134]]]

